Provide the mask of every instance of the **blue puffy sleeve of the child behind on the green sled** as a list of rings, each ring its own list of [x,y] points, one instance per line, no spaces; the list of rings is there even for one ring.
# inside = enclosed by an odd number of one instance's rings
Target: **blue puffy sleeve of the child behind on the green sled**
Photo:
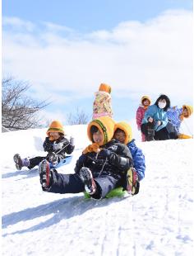
[[[137,147],[132,155],[133,167],[136,169],[139,181],[141,181],[141,179],[145,177],[146,171],[145,155],[143,154],[142,150]]]

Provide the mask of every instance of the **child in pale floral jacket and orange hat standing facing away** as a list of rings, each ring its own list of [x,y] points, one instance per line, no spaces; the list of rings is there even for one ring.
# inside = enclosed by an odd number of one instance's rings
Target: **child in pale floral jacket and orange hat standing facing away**
[[[108,84],[101,83],[99,85],[99,92],[95,92],[92,119],[96,119],[100,116],[113,117],[110,92],[111,87]]]

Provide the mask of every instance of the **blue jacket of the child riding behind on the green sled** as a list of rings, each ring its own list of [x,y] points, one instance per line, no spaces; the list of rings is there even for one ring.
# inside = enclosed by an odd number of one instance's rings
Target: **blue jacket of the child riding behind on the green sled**
[[[127,144],[127,147],[131,151],[133,167],[136,169],[139,181],[141,181],[145,177],[146,171],[145,156],[142,150],[136,146],[134,139]]]

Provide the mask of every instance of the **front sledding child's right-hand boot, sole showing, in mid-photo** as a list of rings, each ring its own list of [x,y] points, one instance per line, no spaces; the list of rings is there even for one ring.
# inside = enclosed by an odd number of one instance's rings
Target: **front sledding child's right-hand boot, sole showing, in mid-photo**
[[[80,178],[85,184],[85,192],[89,193],[90,195],[95,194],[96,185],[90,168],[82,167],[80,171]]]

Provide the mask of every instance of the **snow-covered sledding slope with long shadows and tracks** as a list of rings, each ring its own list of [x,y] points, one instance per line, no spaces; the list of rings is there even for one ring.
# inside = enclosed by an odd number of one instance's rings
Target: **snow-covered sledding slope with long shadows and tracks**
[[[2,134],[2,255],[193,254],[193,140],[136,142],[146,155],[138,195],[101,201],[42,192],[38,169],[16,171],[13,154],[45,155],[46,130]],[[58,172],[73,173],[86,126],[67,126],[76,150]]]

